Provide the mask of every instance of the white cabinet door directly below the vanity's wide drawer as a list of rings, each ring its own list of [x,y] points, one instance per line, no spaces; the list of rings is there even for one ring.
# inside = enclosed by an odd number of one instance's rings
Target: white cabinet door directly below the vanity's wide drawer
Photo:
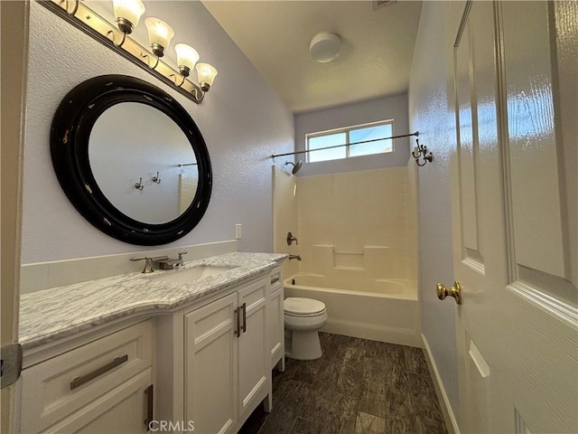
[[[148,397],[145,391],[150,383],[149,369],[42,432],[87,434],[146,432]],[[152,428],[155,428],[154,425]]]

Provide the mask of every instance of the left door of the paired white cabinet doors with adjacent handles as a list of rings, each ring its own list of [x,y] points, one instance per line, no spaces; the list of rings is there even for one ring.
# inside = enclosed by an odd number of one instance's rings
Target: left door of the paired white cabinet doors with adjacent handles
[[[184,416],[195,432],[231,432],[237,421],[237,297],[185,315]]]

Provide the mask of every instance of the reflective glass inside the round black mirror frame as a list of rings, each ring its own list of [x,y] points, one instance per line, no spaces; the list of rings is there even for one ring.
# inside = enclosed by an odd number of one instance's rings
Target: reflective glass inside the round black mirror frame
[[[197,192],[191,143],[172,118],[144,103],[122,102],[98,117],[89,164],[107,200],[139,222],[171,222]],[[135,188],[140,178],[142,190]]]

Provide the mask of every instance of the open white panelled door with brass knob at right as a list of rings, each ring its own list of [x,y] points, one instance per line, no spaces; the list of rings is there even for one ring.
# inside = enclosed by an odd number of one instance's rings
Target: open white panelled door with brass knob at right
[[[448,47],[461,432],[575,433],[577,5],[462,5]]]

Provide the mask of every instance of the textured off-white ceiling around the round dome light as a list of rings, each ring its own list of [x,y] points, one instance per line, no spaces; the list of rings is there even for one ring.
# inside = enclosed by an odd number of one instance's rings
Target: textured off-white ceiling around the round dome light
[[[294,113],[405,93],[422,2],[204,1]],[[328,31],[340,56],[312,61],[309,42]]]

